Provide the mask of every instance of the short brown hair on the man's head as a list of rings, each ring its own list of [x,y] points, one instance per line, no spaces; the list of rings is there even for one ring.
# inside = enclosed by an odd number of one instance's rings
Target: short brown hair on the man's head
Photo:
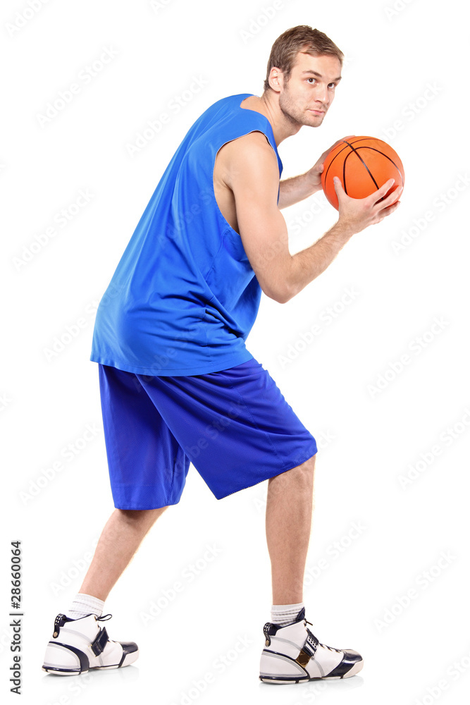
[[[299,51],[304,51],[312,56],[322,56],[329,54],[336,56],[342,65],[344,54],[329,37],[319,30],[312,30],[309,25],[297,25],[291,27],[290,30],[285,30],[280,37],[276,39],[269,55],[268,70],[264,79],[264,90],[270,88],[269,73],[271,68],[275,66],[283,72],[286,80],[290,77],[292,66],[295,63],[295,57]]]

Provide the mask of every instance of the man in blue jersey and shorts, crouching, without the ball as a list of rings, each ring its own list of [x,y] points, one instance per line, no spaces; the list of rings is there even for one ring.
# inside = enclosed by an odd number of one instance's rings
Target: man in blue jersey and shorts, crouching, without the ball
[[[273,605],[259,678],[297,683],[362,668],[357,651],[324,646],[307,627],[302,584],[316,442],[245,346],[261,290],[287,302],[354,233],[398,206],[400,191],[384,198],[392,180],[362,200],[337,183],[338,222],[290,255],[280,209],[321,188],[327,153],[280,182],[277,147],[302,125],[321,125],[342,58],[306,25],[280,35],[261,97],[223,98],[192,125],[118,263],[91,356],[116,510],[80,592],[56,618],[48,673],[135,661],[137,644],[111,641],[101,626],[104,600],[151,525],[180,500],[190,462],[218,499],[268,479]]]

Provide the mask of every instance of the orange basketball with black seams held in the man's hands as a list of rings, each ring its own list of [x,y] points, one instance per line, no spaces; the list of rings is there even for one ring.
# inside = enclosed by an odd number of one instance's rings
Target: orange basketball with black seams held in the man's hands
[[[338,210],[338,196],[333,184],[338,176],[342,188],[352,198],[365,198],[394,178],[386,195],[404,185],[403,164],[395,149],[376,137],[351,137],[336,145],[323,164],[321,185],[328,201]]]

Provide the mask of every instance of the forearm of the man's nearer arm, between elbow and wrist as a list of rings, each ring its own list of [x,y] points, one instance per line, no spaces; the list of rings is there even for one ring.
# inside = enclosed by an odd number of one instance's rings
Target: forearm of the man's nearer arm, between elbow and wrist
[[[286,300],[298,294],[325,271],[352,235],[354,235],[353,228],[338,221],[314,245],[292,255],[286,281],[288,291]]]

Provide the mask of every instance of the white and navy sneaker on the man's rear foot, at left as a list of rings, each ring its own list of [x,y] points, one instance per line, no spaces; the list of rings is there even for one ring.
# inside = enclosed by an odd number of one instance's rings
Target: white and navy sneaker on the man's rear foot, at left
[[[139,649],[134,642],[113,642],[99,622],[111,615],[72,619],[56,616],[54,634],[47,644],[42,670],[56,675],[79,675],[90,668],[123,668],[134,663]]]

